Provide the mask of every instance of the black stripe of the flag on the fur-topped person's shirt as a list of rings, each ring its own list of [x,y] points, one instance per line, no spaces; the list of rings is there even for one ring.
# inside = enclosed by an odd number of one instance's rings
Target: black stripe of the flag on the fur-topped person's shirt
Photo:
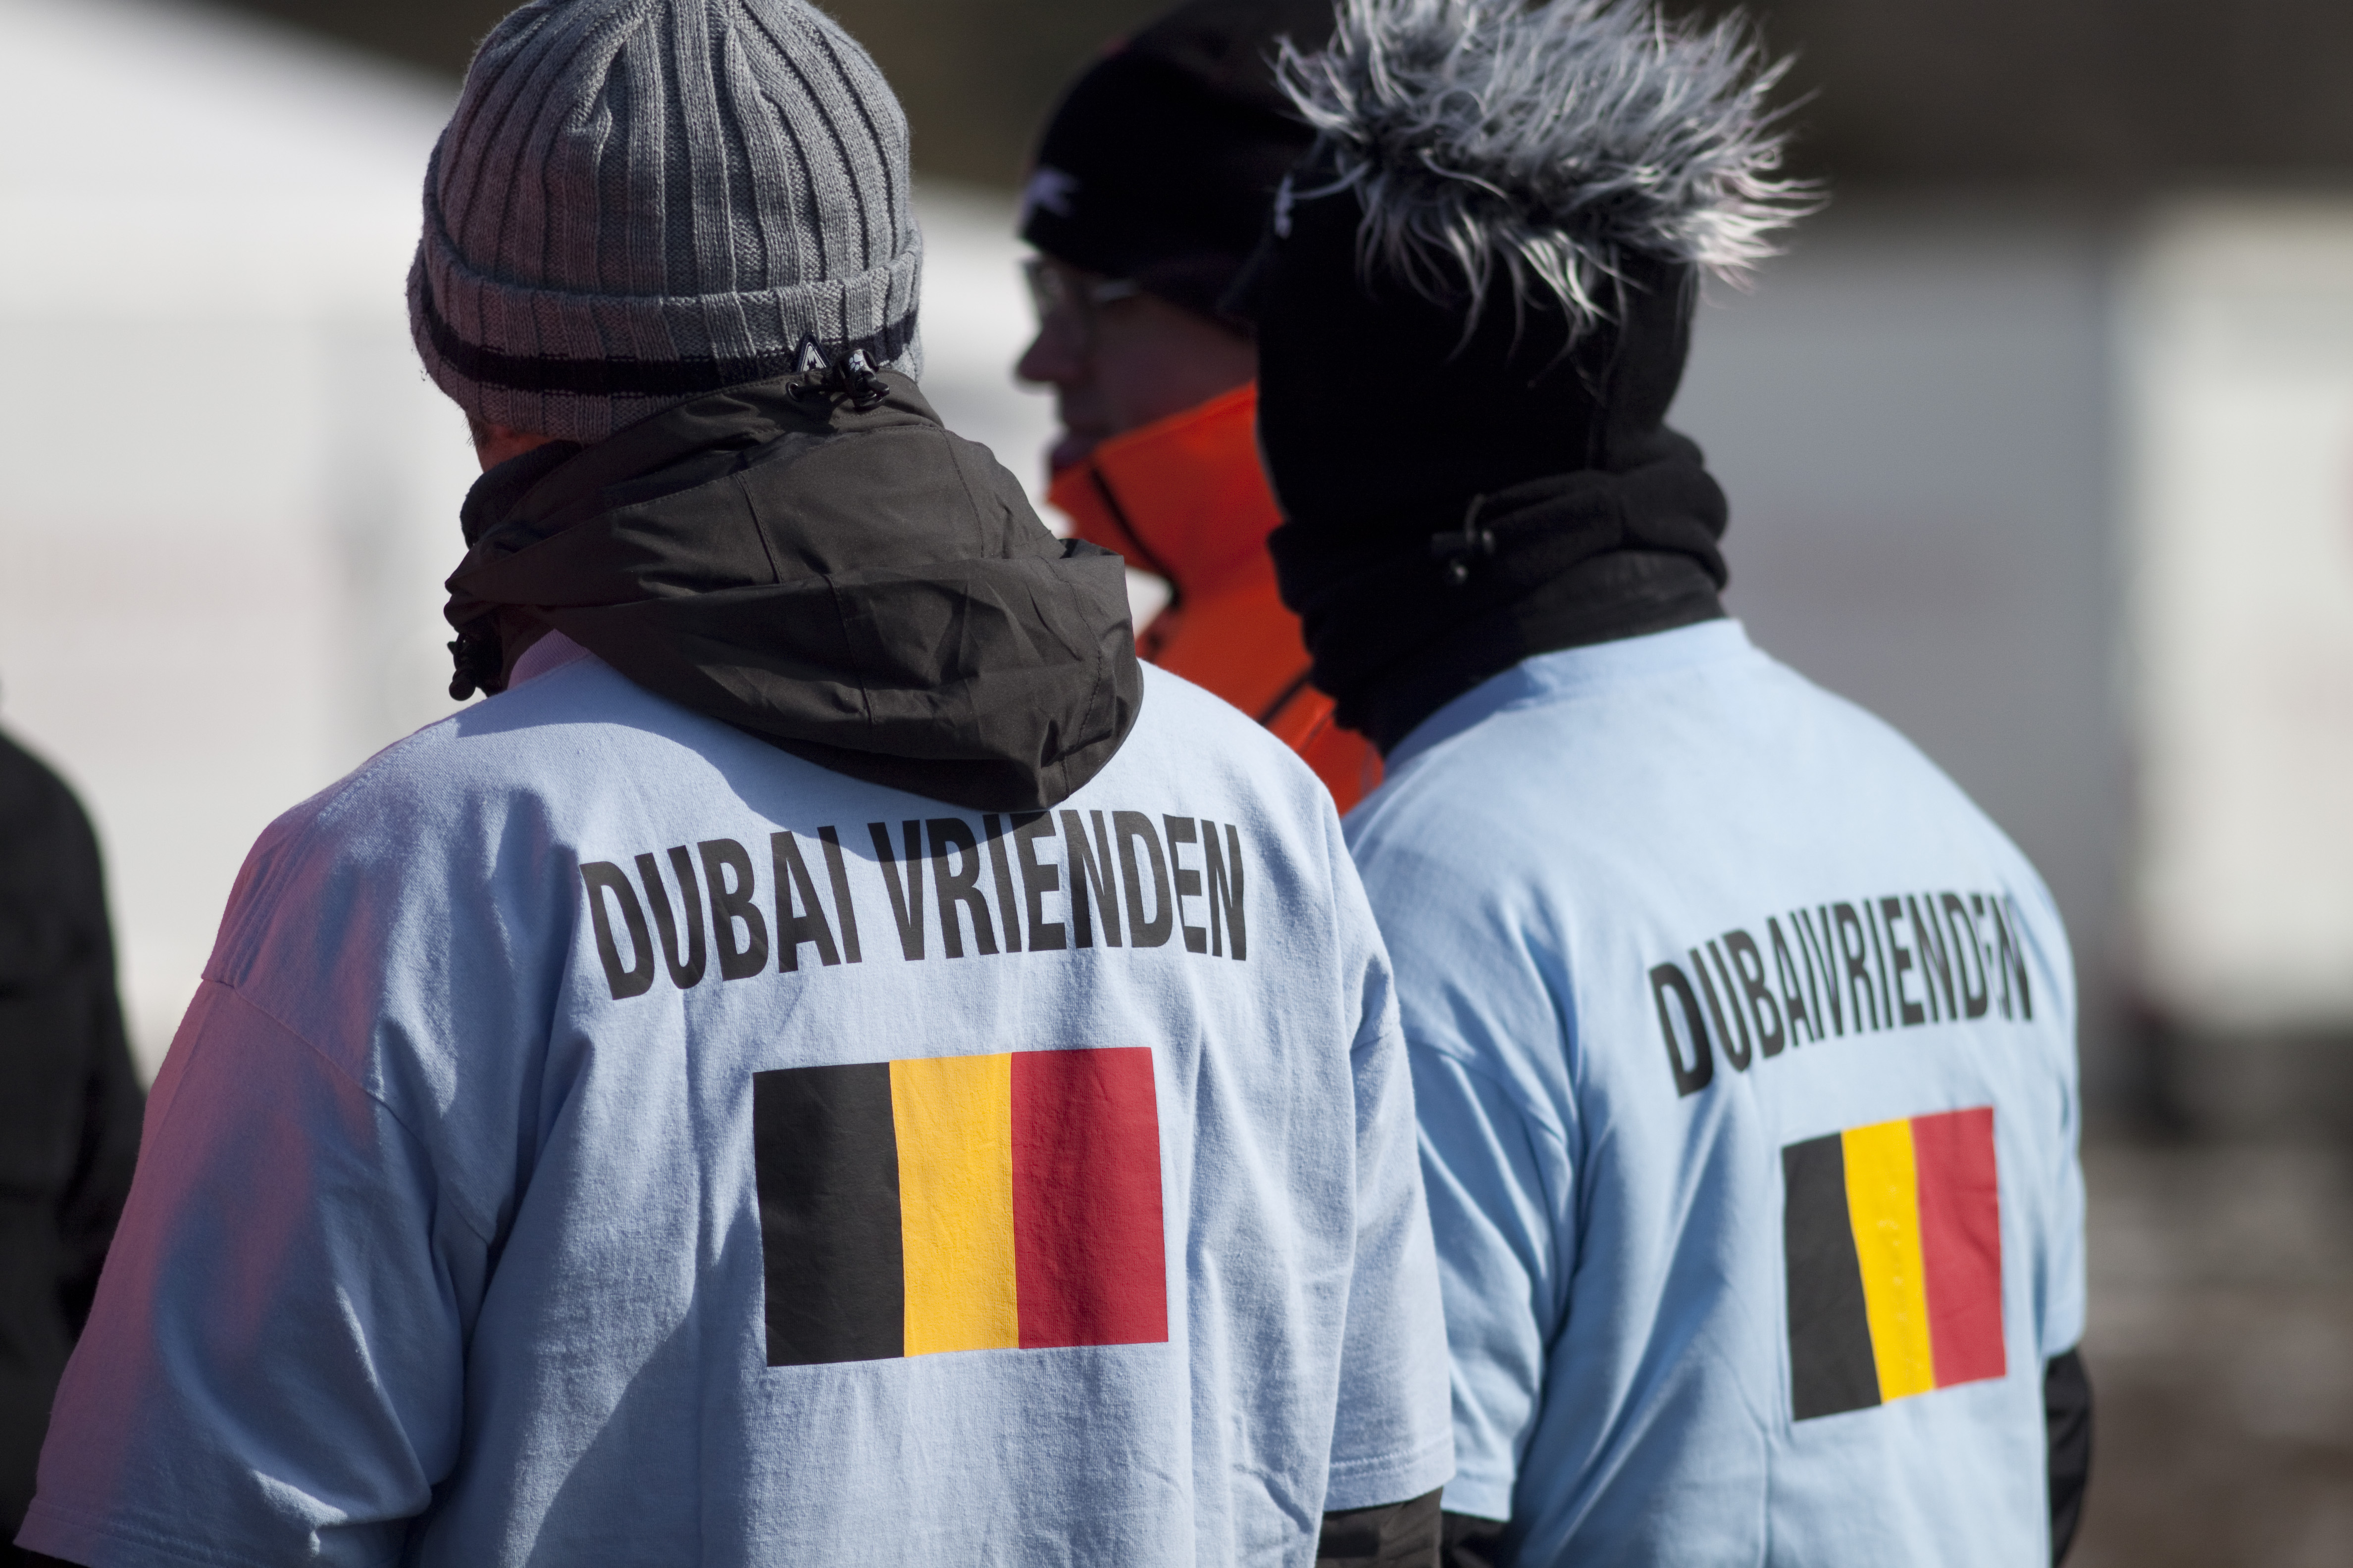
[[[1795,1420],[1880,1403],[1864,1265],[1847,1218],[1847,1145],[1838,1133],[1781,1150],[1788,1208],[1788,1396]]]

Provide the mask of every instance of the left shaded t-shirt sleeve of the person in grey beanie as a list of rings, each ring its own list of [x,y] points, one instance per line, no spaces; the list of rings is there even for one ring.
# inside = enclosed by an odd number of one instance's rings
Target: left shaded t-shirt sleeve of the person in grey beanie
[[[485,1267],[400,1119],[207,980],[19,1542],[92,1568],[393,1561],[456,1462]]]

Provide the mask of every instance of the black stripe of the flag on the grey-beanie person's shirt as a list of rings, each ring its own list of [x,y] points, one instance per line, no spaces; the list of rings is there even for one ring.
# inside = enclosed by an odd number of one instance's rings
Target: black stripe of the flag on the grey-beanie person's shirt
[[[889,1063],[751,1079],[767,1363],[906,1354]]]

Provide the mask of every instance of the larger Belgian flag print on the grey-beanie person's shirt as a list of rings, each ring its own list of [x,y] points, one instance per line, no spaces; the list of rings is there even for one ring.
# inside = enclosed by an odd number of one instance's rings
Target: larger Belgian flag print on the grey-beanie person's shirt
[[[753,1074],[767,1363],[1169,1338],[1153,1053]]]

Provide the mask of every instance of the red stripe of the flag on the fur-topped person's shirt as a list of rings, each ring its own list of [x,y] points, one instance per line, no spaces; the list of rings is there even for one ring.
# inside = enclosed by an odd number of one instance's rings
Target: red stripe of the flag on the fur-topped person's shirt
[[[1993,1107],[1913,1117],[1913,1166],[1937,1387],[2000,1378],[2007,1359]]]

